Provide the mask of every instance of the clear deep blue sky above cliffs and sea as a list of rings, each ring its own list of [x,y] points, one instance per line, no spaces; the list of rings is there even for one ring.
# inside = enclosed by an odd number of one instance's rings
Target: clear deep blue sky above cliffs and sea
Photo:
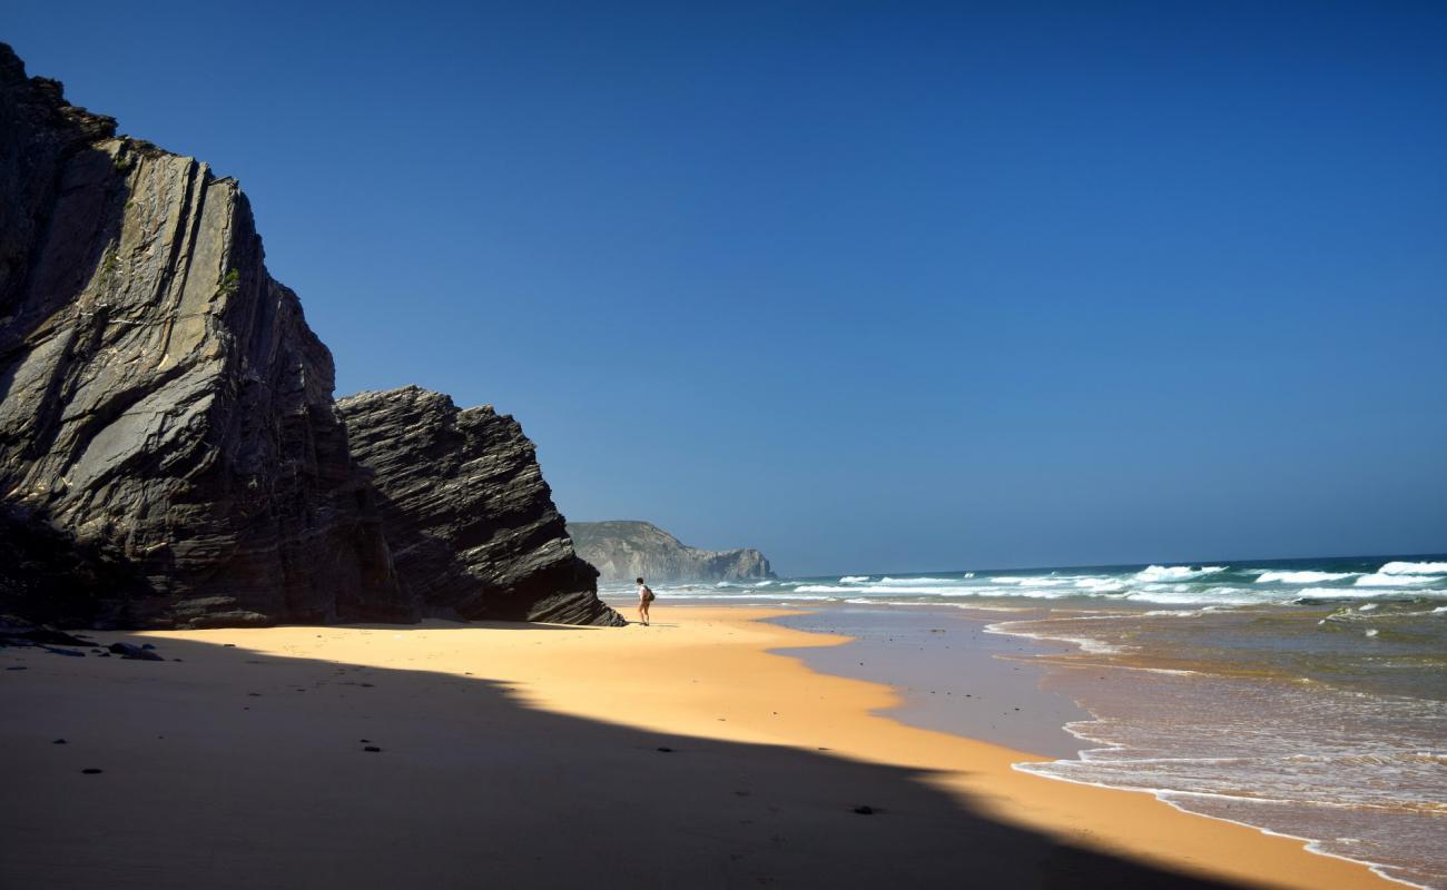
[[[1447,550],[1443,3],[4,6],[242,181],[340,394],[517,415],[570,518]]]

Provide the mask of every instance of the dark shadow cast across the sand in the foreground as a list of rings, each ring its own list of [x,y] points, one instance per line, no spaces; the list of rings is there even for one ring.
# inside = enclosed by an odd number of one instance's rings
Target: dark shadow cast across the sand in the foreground
[[[0,671],[0,886],[1231,886],[1001,823],[926,771],[546,712],[480,676],[156,644],[169,661],[0,650],[25,667]]]

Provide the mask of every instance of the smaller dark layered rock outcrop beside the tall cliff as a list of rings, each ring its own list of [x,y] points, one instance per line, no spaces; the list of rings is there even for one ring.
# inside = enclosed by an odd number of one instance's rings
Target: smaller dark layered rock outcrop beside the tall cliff
[[[417,386],[337,402],[396,573],[436,614],[624,624],[596,596],[522,427]]]

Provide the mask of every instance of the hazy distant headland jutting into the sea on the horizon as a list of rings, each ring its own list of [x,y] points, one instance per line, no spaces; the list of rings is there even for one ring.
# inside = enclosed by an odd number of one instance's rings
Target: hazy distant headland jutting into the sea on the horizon
[[[774,577],[758,550],[699,550],[651,522],[569,522],[567,531],[577,554],[598,569],[603,582],[640,576],[650,582]]]

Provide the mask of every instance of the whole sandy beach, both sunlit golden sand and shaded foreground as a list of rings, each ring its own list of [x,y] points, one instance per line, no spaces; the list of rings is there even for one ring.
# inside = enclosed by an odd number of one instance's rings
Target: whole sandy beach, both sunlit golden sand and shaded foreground
[[[0,886],[1391,886],[903,725],[891,687],[773,653],[846,640],[781,614],[3,650]]]

